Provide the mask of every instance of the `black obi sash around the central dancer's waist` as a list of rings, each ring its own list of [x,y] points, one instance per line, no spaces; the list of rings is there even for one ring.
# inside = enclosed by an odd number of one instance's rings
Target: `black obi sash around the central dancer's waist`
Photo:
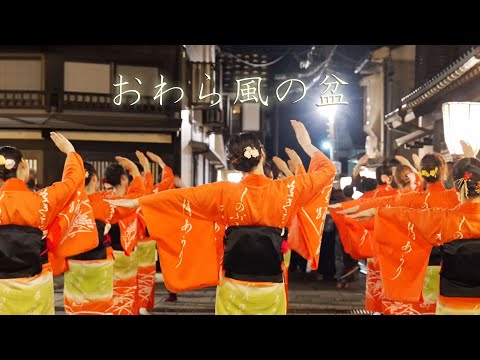
[[[223,243],[225,276],[252,282],[283,282],[282,241],[285,229],[270,226],[229,226]]]

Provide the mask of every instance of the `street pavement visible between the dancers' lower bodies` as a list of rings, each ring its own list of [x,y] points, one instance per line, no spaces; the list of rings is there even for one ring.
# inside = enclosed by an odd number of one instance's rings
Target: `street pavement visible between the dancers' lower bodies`
[[[178,294],[178,300],[165,301],[168,291],[157,274],[155,306],[152,315],[213,315],[215,313],[215,287]],[[316,272],[289,275],[288,314],[291,315],[363,315],[365,275],[356,274],[348,289],[337,289],[336,282],[321,280]],[[56,314],[64,315],[63,277],[55,278]]]

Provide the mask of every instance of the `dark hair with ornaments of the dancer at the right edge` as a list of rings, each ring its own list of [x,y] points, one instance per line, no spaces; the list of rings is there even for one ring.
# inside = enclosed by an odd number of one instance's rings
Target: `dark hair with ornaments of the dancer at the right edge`
[[[469,198],[480,195],[480,160],[477,158],[463,158],[453,167],[455,187],[465,191]]]

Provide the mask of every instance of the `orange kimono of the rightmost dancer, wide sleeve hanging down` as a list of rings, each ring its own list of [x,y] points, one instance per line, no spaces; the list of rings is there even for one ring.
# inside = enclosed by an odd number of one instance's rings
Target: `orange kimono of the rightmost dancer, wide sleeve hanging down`
[[[453,209],[380,208],[377,224],[403,235],[379,242],[386,289],[402,300],[418,300],[431,249],[443,245],[436,314],[480,313],[480,203],[467,201]]]

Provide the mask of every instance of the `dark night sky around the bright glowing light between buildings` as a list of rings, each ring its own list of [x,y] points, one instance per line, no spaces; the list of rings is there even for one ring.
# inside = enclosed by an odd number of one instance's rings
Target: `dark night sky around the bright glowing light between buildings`
[[[312,47],[315,48],[312,50]],[[306,96],[299,102],[292,104],[286,98],[279,104],[278,111],[275,111],[273,106],[267,108],[268,117],[271,123],[275,121],[278,116],[279,121],[279,152],[283,157],[283,148],[292,147],[296,145],[296,139],[289,124],[290,119],[300,120],[305,123],[305,126],[310,132],[312,142],[320,147],[321,144],[327,140],[327,121],[321,114],[319,108],[315,105],[319,103],[320,94],[325,90],[325,85],[319,86],[319,83],[325,78],[325,75],[335,74],[342,80],[346,81],[348,85],[341,87],[345,100],[348,105],[339,107],[336,115],[337,121],[337,136],[343,146],[353,148],[364,148],[365,133],[363,132],[363,89],[359,85],[360,75],[355,74],[355,68],[365,59],[369,52],[373,49],[379,48],[383,45],[338,45],[330,57],[327,68],[324,70],[322,76],[316,81],[308,91]],[[270,74],[285,74],[287,78],[296,78],[298,74],[311,72],[319,64],[329,58],[334,45],[220,45],[224,51],[235,54],[258,53],[260,55],[268,55],[269,61],[277,59],[285,55],[280,61],[269,67]],[[300,63],[309,59],[310,65],[307,69],[302,69]],[[312,79],[306,78],[307,84],[313,84]],[[332,78],[330,78],[332,79]],[[270,96],[274,96],[276,85],[280,81],[274,81],[270,86]],[[273,129],[273,127],[272,127]],[[273,140],[270,139],[272,142]],[[274,152],[273,144],[265,144],[267,150]],[[274,154],[272,154],[274,155]]]

